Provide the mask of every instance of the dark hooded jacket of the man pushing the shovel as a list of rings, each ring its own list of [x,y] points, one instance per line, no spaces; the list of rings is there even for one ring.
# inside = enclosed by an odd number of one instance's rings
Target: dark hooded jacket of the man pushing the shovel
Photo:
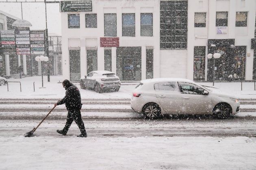
[[[78,88],[68,80],[64,80],[62,83],[64,84],[63,87],[66,89],[66,95],[57,102],[57,105],[65,103],[67,110],[81,109],[82,103]]]

